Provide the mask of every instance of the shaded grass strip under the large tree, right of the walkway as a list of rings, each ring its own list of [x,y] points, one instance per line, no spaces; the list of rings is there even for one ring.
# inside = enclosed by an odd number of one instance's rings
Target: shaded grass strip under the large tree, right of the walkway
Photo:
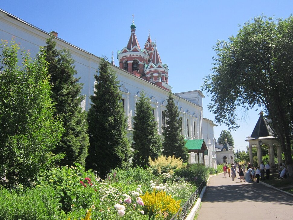
[[[265,175],[266,178],[266,175]],[[293,177],[278,179],[278,173],[272,173],[269,180],[263,181],[288,193],[293,193]]]

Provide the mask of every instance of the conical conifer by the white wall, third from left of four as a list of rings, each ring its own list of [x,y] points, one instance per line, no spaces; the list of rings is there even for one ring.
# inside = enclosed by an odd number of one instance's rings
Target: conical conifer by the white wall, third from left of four
[[[134,166],[148,165],[149,157],[154,160],[162,151],[162,141],[158,135],[157,122],[154,120],[149,100],[142,92],[140,101],[136,104],[132,144]]]

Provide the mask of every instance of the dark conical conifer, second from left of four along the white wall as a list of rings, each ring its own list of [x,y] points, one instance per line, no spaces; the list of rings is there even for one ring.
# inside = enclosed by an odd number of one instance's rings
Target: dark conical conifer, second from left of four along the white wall
[[[116,167],[128,166],[131,150],[117,76],[105,58],[101,60],[97,73],[88,112],[90,146],[86,168],[105,177]]]

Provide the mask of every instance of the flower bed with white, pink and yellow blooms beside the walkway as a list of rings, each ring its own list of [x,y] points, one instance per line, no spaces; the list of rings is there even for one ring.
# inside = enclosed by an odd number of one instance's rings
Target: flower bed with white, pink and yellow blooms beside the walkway
[[[117,169],[100,180],[79,164],[53,168],[39,174],[31,188],[1,189],[0,219],[170,219],[205,175],[195,178],[194,167],[180,169],[193,172],[180,178],[176,171]]]

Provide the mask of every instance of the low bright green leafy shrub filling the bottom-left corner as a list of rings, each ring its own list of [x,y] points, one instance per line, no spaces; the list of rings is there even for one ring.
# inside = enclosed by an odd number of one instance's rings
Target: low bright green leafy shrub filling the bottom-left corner
[[[40,219],[59,218],[59,198],[50,186],[27,188],[21,193],[8,189],[0,190],[0,219]]]

